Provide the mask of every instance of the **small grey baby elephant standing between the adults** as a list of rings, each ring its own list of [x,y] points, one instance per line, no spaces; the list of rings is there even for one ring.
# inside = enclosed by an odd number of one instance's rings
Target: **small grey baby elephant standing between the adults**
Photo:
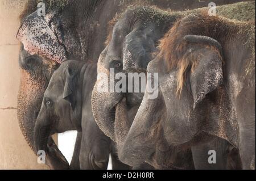
[[[97,65],[77,60],[64,61],[52,75],[36,119],[36,150],[51,152],[48,138],[69,130],[81,132],[80,168],[106,169],[112,154],[113,169],[129,169],[114,154],[113,142],[98,128],[91,108]]]

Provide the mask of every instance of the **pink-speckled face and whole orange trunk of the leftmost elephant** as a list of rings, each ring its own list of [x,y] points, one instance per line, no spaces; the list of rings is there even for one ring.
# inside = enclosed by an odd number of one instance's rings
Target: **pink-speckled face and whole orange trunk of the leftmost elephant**
[[[31,7],[36,7],[32,4]],[[28,9],[29,11],[31,10]],[[51,19],[51,13],[43,17],[38,16],[35,11],[23,18],[16,35],[17,39],[22,41],[19,56],[21,78],[18,95],[18,120],[22,134],[34,152],[36,152],[36,149],[33,131],[44,91],[48,86],[51,75],[66,56],[65,48],[57,38],[57,31],[51,29],[47,24]],[[46,37],[47,40],[44,40]],[[48,48],[46,49],[46,47]],[[55,56],[52,56],[52,54],[55,54]],[[48,144],[51,145],[51,155],[48,154],[47,164],[51,168],[67,169],[68,162],[63,159],[63,155],[51,138],[49,138]]]

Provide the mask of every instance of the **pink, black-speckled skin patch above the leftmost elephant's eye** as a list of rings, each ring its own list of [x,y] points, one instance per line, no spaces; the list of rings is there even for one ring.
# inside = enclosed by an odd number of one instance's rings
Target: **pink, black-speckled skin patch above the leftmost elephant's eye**
[[[16,38],[23,43],[24,49],[30,54],[40,54],[61,64],[67,59],[67,54],[49,26],[52,16],[51,14],[38,16],[37,11],[33,12],[24,19]]]

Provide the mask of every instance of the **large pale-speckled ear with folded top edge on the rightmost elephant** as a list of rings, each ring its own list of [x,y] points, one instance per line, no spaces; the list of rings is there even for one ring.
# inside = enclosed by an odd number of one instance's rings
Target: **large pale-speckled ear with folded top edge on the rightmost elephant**
[[[223,81],[221,44],[208,36],[187,35],[184,39],[196,49],[199,60],[192,65],[190,83],[194,99],[194,109],[207,94],[217,89]],[[201,46],[201,47],[197,47]],[[193,67],[194,66],[194,67]]]

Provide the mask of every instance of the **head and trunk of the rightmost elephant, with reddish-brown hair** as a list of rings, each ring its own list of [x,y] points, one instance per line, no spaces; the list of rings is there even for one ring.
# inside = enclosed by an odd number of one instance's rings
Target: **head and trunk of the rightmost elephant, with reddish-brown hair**
[[[154,159],[159,143],[191,146],[209,140],[210,134],[227,138],[226,132],[220,132],[229,121],[220,124],[226,116],[220,113],[226,99],[222,88],[223,50],[220,42],[212,37],[188,34],[201,31],[202,35],[209,35],[208,29],[200,29],[205,27],[200,18],[181,19],[161,40],[160,52],[147,67],[148,73],[159,73],[159,96],[149,99],[147,85],[119,154],[122,162],[137,165]],[[202,24],[196,23],[193,29],[195,19],[200,19]]]

